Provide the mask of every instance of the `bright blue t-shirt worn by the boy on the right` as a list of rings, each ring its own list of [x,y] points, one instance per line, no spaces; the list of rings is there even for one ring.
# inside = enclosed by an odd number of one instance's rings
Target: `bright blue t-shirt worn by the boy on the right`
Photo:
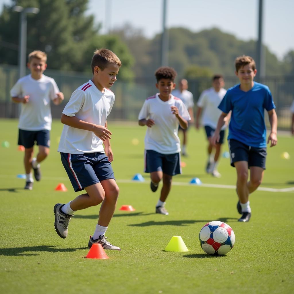
[[[240,84],[228,89],[218,108],[224,113],[232,111],[229,124],[229,139],[248,146],[266,147],[264,110],[275,108],[268,86],[254,82],[248,92],[240,90]]]

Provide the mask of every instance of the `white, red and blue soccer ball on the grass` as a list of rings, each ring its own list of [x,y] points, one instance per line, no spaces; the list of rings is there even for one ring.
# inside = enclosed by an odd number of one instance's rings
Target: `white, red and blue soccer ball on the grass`
[[[232,228],[221,221],[207,223],[199,233],[201,248],[208,254],[227,254],[235,244]]]

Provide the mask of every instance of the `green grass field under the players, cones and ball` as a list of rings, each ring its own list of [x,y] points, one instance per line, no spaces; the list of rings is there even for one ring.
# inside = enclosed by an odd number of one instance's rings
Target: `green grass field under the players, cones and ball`
[[[109,259],[95,260],[83,257],[99,207],[75,213],[68,238],[59,238],[54,230],[55,203],[78,195],[56,151],[61,123],[53,122],[51,153],[33,191],[25,191],[25,180],[16,177],[24,174],[17,121],[0,123],[1,143],[10,143],[9,148],[0,146],[1,293],[294,293],[294,139],[289,135],[279,135],[278,145],[268,148],[263,184],[250,198],[252,218],[239,223],[235,169],[228,158],[221,158],[222,178],[204,173],[203,131],[189,130],[189,157],[182,158],[186,167],[173,178],[166,204],[170,215],[163,216],[154,213],[159,192],[151,192],[148,174],[143,173],[145,128],[108,123],[120,196],[106,235],[122,250],[106,250]],[[133,138],[138,145],[131,143]],[[281,158],[284,151],[289,160]],[[130,181],[136,173],[145,182]],[[193,177],[211,187],[188,185]],[[68,191],[55,191],[58,183]],[[136,211],[120,211],[121,205]],[[210,256],[199,245],[200,229],[212,220],[228,223],[235,232],[235,246],[225,256]],[[188,252],[164,251],[173,235],[183,238]]]

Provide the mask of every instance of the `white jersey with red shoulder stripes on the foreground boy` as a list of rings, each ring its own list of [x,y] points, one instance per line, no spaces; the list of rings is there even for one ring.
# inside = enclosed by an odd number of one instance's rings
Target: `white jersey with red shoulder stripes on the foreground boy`
[[[64,113],[67,116],[76,116],[82,121],[105,126],[106,117],[114,103],[114,94],[104,88],[100,92],[91,80],[78,87],[72,93],[66,104]],[[101,152],[104,153],[103,141],[92,131],[81,130],[64,125],[59,141],[59,152],[83,154]]]

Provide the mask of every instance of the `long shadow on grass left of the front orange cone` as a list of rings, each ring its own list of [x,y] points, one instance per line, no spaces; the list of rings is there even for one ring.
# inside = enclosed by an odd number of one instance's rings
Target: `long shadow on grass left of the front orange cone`
[[[74,252],[76,250],[88,249],[88,247],[82,248],[55,248],[57,245],[41,245],[41,246],[31,246],[31,247],[14,247],[14,248],[0,248],[0,255],[6,256],[35,256],[39,255],[38,252]],[[36,253],[25,253],[25,252],[35,252]]]

